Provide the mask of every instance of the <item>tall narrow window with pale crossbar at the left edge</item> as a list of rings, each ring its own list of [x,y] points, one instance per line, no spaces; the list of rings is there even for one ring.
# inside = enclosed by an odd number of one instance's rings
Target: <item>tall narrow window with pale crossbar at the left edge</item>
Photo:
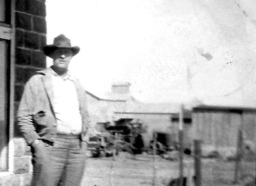
[[[8,170],[10,105],[10,1],[0,0],[0,172]]]

